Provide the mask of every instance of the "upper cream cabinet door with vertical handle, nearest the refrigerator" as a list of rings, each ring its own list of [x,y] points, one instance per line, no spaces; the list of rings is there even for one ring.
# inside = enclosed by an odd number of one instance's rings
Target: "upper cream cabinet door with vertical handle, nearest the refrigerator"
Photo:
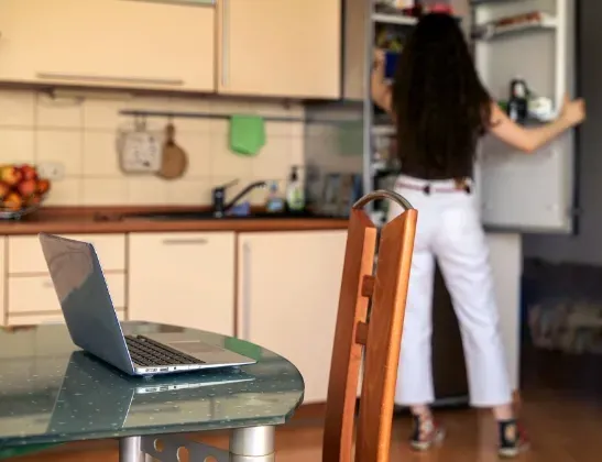
[[[221,0],[218,91],[338,99],[340,0]]]

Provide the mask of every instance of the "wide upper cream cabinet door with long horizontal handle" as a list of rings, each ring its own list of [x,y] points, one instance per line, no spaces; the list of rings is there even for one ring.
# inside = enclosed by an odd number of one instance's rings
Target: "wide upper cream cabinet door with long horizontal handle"
[[[0,80],[215,90],[214,0],[2,0]]]

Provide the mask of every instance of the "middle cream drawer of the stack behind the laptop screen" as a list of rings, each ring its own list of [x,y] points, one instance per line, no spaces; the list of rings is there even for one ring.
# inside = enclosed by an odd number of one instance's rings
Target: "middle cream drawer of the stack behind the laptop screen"
[[[125,306],[125,275],[107,274],[113,306]],[[8,316],[14,314],[45,315],[61,312],[61,305],[50,276],[9,276]]]

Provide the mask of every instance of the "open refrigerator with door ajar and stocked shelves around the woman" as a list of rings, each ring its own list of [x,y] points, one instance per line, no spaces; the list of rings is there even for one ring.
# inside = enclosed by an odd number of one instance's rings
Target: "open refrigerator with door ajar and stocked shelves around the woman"
[[[526,84],[529,99],[539,102],[521,123],[536,125],[552,119],[563,95],[576,96],[577,0],[466,1],[470,14],[459,20],[492,98],[505,108],[511,84],[519,79]],[[404,41],[417,22],[408,15],[412,10],[392,8],[390,2],[370,3],[368,59],[372,59],[372,50],[383,44],[403,53]],[[364,72],[364,188],[391,189],[401,169],[395,156],[395,128],[371,103],[371,66]],[[483,224],[513,232],[571,232],[574,162],[572,132],[530,155],[485,136],[474,178]],[[375,222],[386,219],[385,207],[374,206]]]

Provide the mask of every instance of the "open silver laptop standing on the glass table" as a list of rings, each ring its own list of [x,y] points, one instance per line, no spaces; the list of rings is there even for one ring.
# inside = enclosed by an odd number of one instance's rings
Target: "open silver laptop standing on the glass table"
[[[72,340],[88,353],[143,376],[256,362],[186,333],[124,336],[94,245],[45,233],[40,242]]]

